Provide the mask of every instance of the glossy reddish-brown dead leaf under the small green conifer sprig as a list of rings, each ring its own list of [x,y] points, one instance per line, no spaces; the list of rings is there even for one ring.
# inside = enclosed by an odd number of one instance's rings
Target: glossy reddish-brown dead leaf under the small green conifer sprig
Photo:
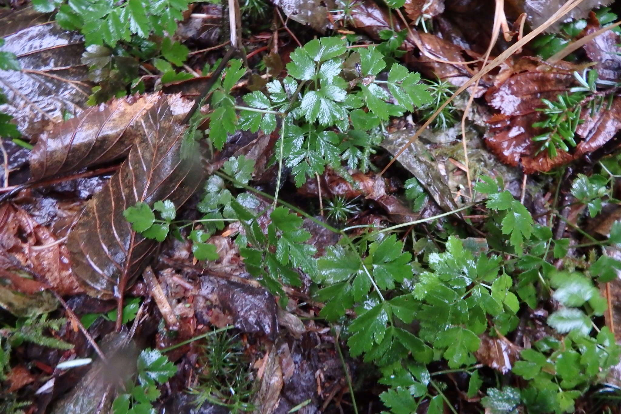
[[[597,150],[621,129],[621,102],[615,97],[609,109],[604,105],[592,117],[591,109],[583,107],[584,122],[576,129],[582,140],[572,153],[559,148],[558,155],[550,158],[548,151],[538,151],[540,143],[532,138],[542,130],[533,124],[543,119],[537,110],[543,106],[542,99],[556,101],[574,86],[573,72],[579,70],[567,62],[550,66],[535,58],[523,58],[497,75],[486,94],[489,105],[498,111],[488,120],[486,143],[503,163],[521,166],[527,174],[550,171]]]

